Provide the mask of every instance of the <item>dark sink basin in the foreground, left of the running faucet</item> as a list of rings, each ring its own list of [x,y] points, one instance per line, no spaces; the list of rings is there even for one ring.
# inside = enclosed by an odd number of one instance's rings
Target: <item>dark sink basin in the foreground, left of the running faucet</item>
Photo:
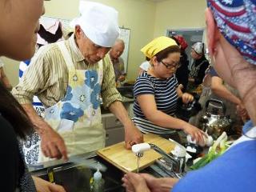
[[[106,172],[102,172],[102,177],[105,180],[104,191],[125,191],[121,182],[122,171],[100,158],[95,157],[94,160],[107,167]],[[31,173],[47,181],[50,181],[50,174],[53,173],[54,183],[62,185],[67,192],[90,192],[90,178],[95,171],[86,166],[78,166],[69,162],[60,166],[34,170]]]

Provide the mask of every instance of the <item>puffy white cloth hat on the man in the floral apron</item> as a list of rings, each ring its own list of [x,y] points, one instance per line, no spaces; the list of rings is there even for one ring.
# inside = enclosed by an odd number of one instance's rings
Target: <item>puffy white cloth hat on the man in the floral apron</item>
[[[80,1],[81,16],[71,26],[81,26],[86,37],[98,46],[111,47],[118,38],[118,11],[98,2]]]

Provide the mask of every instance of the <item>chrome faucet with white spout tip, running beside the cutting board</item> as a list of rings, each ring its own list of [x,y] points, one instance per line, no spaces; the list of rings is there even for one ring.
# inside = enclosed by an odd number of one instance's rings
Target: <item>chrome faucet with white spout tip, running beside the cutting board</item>
[[[185,164],[186,164],[186,158],[185,156],[178,157],[174,154],[166,154],[164,150],[159,148],[158,146],[152,144],[152,143],[140,143],[132,146],[132,151],[136,156],[143,156],[143,152],[146,150],[154,150],[158,152],[158,154],[162,154],[162,156],[165,158],[166,162],[172,167],[172,170],[174,173],[182,174],[185,170]]]

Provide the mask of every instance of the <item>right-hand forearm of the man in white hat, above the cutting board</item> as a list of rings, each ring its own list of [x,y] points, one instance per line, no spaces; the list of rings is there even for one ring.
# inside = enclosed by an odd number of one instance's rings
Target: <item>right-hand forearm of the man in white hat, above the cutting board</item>
[[[115,101],[110,104],[109,110],[112,114],[114,114],[120,122],[122,122],[122,125],[129,126],[133,124],[133,122],[130,120],[130,117],[126,111],[126,108],[122,105],[122,102]]]

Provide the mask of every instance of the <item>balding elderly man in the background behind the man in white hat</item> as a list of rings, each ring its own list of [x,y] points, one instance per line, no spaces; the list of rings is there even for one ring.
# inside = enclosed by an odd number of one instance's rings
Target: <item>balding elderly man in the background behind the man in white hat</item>
[[[114,67],[114,75],[116,82],[123,82],[126,79],[126,72],[122,58],[123,50],[125,50],[125,43],[122,39],[117,39],[110,50],[110,58]]]

